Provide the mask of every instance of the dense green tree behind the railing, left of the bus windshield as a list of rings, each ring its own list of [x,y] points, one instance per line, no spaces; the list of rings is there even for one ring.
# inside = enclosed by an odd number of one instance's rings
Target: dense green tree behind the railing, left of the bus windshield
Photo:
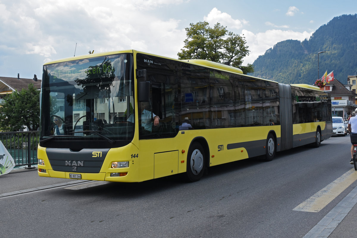
[[[35,131],[40,126],[40,91],[32,84],[5,96],[0,107],[1,131],[17,131],[24,126]]]

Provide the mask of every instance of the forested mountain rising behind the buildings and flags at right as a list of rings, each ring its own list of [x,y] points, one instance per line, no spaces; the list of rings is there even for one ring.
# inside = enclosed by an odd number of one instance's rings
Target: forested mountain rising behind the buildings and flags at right
[[[310,39],[285,40],[268,49],[254,62],[253,76],[281,83],[307,83],[317,79],[317,52],[320,78],[333,70],[335,79],[347,83],[357,70],[357,14],[334,17],[317,29]]]

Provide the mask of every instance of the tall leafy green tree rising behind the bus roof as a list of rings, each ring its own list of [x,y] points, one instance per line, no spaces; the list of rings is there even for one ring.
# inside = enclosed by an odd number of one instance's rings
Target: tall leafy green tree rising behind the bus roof
[[[254,72],[254,66],[242,66],[243,57],[249,55],[244,36],[230,32],[220,23],[211,28],[207,21],[190,23],[186,29],[184,49],[177,53],[178,59],[202,59],[226,63],[243,70],[243,73]]]

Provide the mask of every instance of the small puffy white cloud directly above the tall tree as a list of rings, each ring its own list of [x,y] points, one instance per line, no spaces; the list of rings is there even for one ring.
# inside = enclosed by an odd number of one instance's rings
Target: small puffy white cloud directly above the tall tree
[[[217,22],[219,22],[222,26],[235,29],[241,29],[244,24],[248,24],[248,21],[244,19],[235,20],[231,15],[227,14],[226,12],[221,12],[216,7],[214,7],[207,16],[204,16],[203,20],[207,21],[211,25],[215,25]]]

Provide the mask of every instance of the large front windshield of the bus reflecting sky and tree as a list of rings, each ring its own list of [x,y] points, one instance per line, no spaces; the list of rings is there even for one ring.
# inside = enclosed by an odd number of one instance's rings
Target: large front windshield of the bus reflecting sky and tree
[[[41,140],[130,141],[134,70],[130,54],[45,65]]]

